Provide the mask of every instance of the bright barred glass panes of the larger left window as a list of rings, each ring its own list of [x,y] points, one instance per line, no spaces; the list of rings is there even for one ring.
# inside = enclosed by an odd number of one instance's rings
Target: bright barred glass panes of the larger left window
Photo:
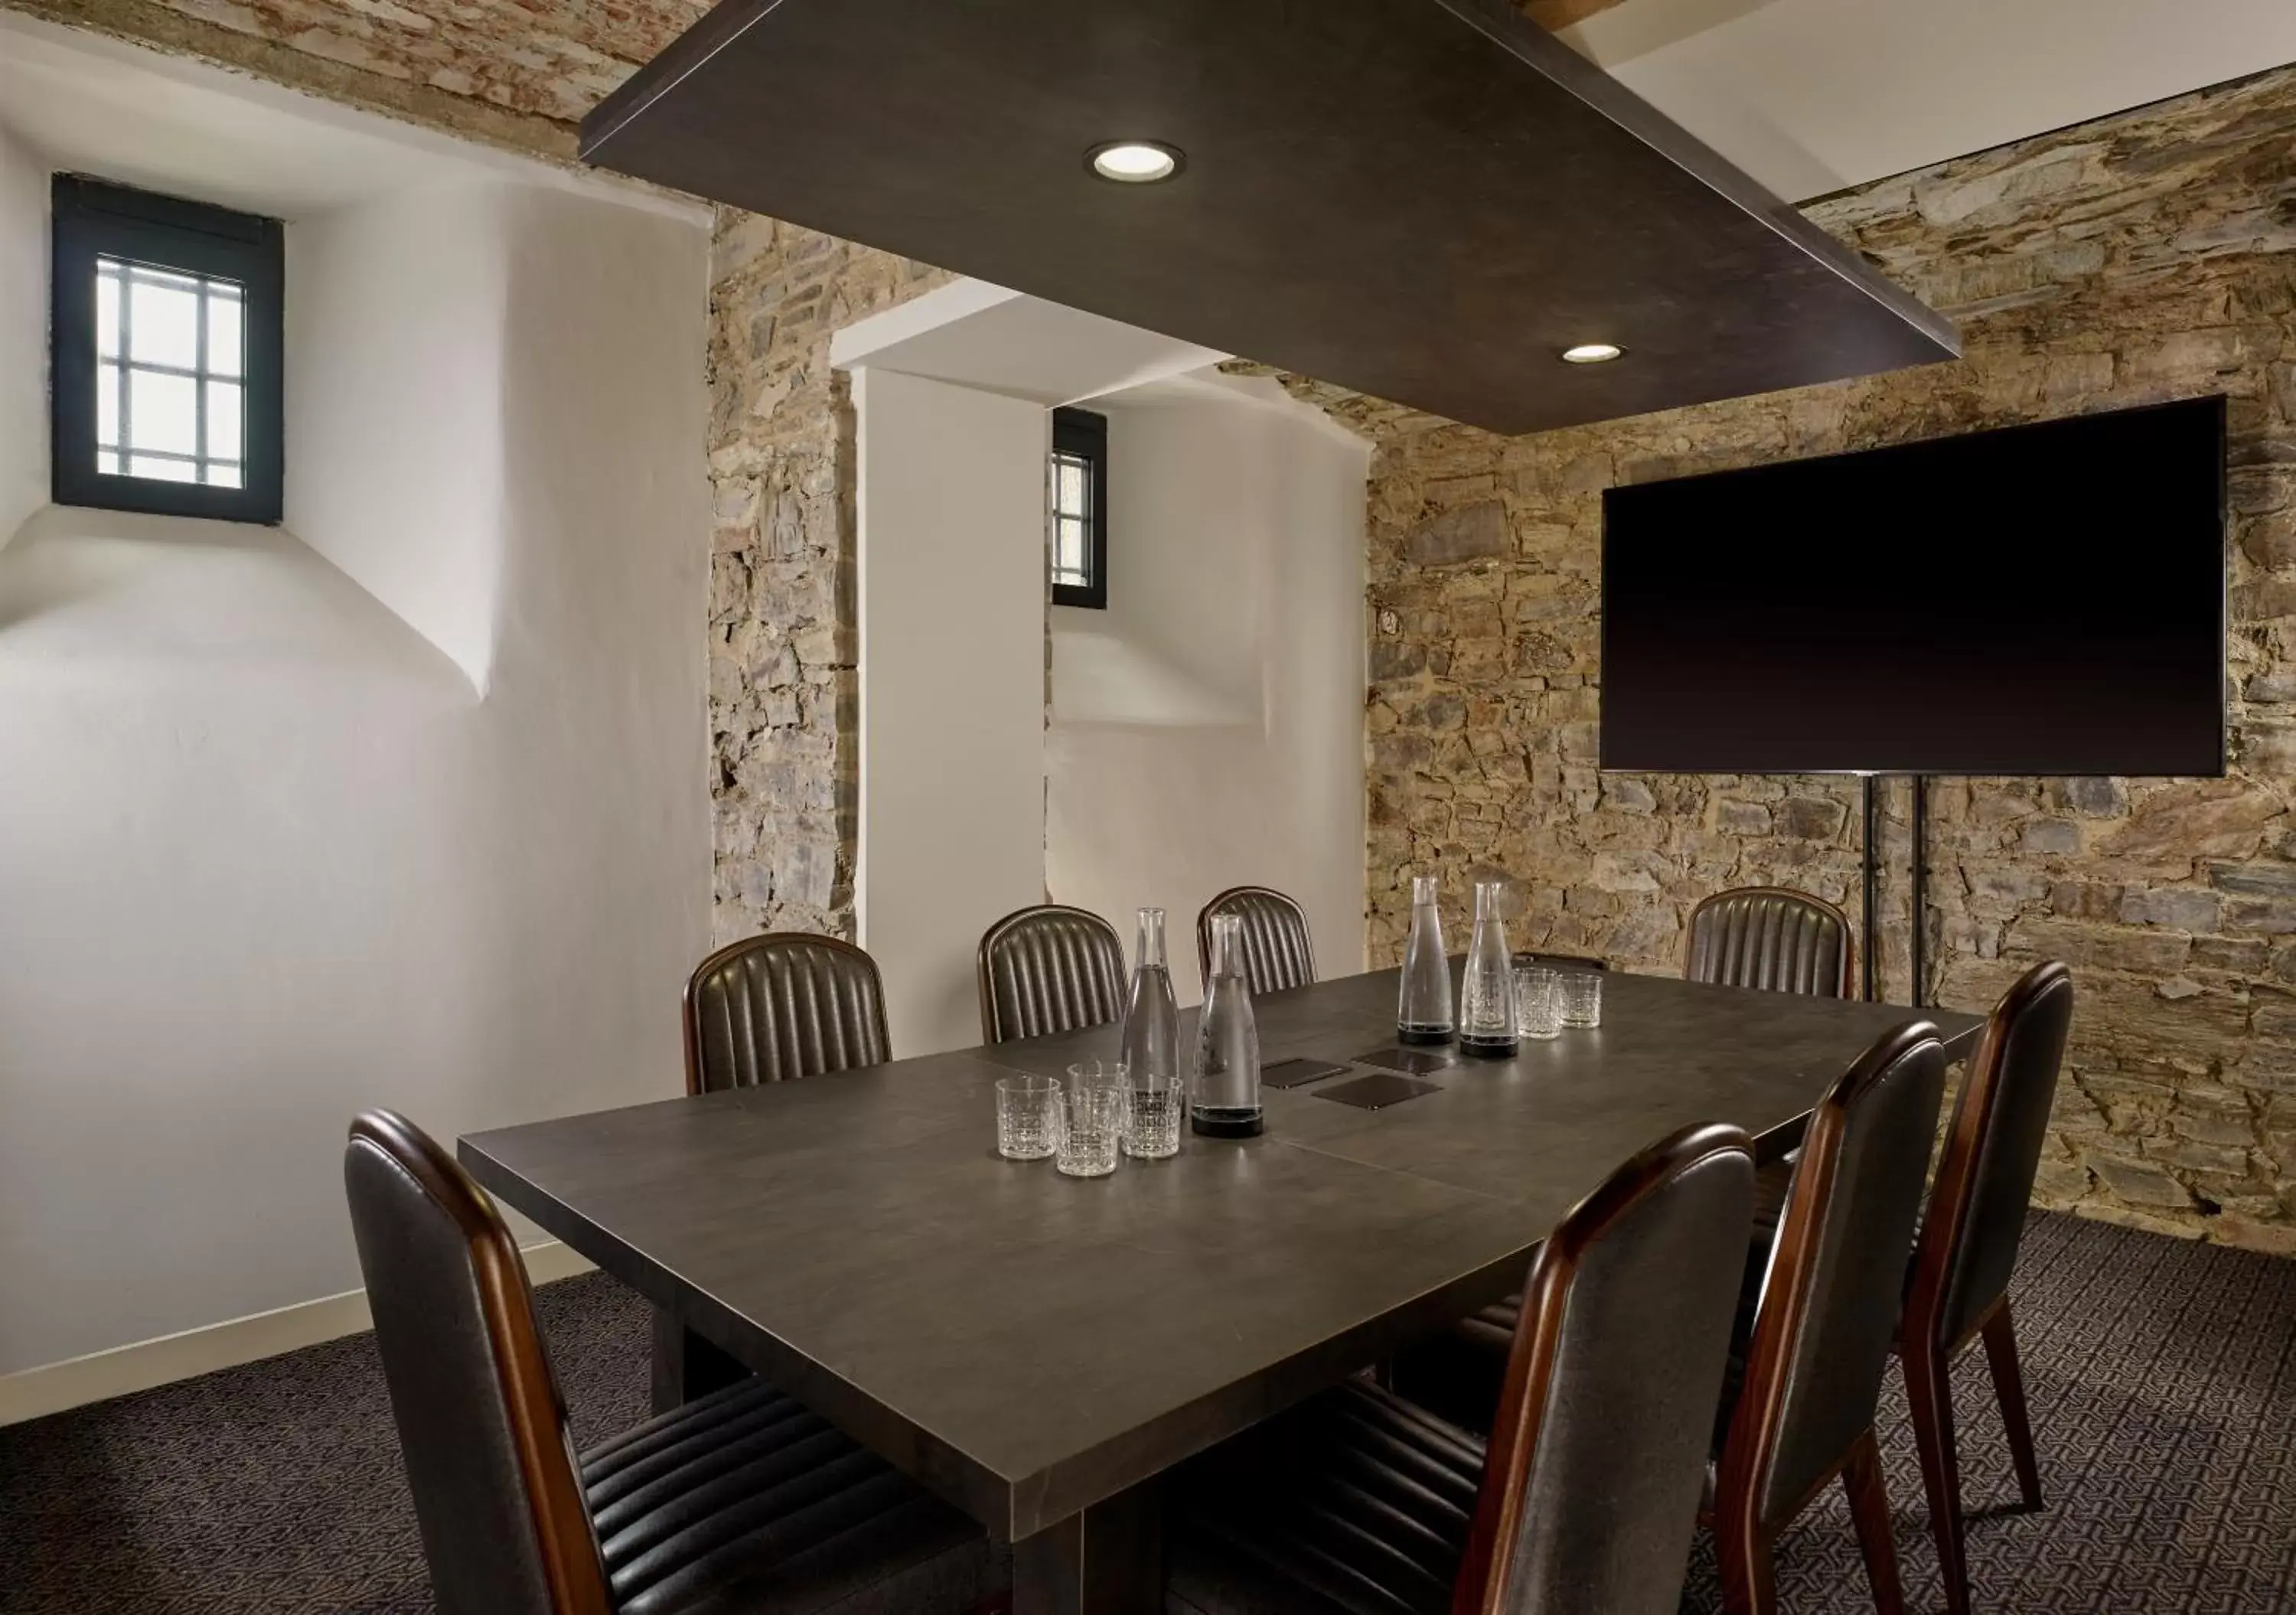
[[[96,257],[96,471],[241,487],[243,289]]]

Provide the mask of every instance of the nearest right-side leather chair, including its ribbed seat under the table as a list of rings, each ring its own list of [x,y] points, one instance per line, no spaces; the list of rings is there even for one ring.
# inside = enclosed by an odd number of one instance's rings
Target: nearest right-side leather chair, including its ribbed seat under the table
[[[1754,1158],[1688,1128],[1538,1247],[1492,1436],[1350,1381],[1169,1489],[1166,1608],[1671,1615],[1722,1390]]]

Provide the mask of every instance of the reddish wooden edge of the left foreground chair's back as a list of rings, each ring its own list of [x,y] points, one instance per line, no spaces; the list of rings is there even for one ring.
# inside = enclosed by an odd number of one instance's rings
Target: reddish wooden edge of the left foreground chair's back
[[[558,1383],[551,1378],[535,1293],[526,1261],[494,1201],[436,1139],[390,1110],[370,1110],[351,1121],[351,1146],[367,1146],[397,1165],[436,1199],[461,1231],[478,1275],[478,1309],[494,1349],[510,1438],[519,1456],[526,1496],[533,1498],[535,1544],[560,1615],[613,1615],[606,1564],[581,1477],[567,1459]]]

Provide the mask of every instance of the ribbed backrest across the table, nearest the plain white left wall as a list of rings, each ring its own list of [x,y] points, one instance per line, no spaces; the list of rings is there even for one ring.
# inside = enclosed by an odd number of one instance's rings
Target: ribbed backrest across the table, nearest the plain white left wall
[[[838,937],[771,930],[723,946],[687,983],[687,1091],[716,1094],[882,1066],[877,960]]]

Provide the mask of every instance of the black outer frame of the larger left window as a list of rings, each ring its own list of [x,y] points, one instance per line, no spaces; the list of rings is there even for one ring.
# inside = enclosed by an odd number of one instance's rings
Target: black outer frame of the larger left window
[[[48,200],[48,496],[60,505],[276,526],[285,496],[287,232],[280,221],[87,175],[57,175]],[[243,287],[241,487],[96,469],[99,257]]]

